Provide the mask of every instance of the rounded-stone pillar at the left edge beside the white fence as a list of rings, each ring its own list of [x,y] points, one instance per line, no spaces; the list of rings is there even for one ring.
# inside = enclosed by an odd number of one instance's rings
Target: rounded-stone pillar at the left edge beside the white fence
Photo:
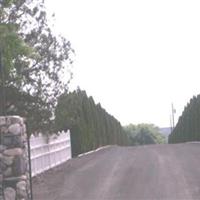
[[[0,117],[0,199],[29,200],[28,148],[24,120]]]

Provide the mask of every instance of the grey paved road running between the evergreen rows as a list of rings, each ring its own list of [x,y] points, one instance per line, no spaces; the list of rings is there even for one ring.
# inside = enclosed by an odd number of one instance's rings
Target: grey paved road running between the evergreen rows
[[[34,181],[35,200],[200,199],[200,143],[109,147]]]

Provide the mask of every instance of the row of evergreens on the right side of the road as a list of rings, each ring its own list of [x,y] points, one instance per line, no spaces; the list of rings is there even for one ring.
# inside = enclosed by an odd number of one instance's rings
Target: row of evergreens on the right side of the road
[[[200,140],[200,95],[194,96],[185,107],[172,133],[169,143]]]

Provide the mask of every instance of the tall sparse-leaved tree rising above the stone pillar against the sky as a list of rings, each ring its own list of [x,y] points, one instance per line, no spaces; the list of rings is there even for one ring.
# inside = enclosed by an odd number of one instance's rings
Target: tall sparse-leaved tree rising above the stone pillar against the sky
[[[72,78],[73,53],[69,41],[52,33],[43,0],[2,0],[0,86],[1,97],[3,87],[6,91],[6,113],[21,114],[30,125],[52,123],[57,98]],[[2,112],[1,102],[0,107]],[[30,131],[41,130],[42,124]]]

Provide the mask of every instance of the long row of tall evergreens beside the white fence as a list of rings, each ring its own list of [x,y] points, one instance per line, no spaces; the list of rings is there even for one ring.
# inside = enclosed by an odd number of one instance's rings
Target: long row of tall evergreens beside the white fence
[[[59,98],[55,115],[58,130],[71,130],[73,156],[104,145],[128,143],[120,122],[80,89]]]

